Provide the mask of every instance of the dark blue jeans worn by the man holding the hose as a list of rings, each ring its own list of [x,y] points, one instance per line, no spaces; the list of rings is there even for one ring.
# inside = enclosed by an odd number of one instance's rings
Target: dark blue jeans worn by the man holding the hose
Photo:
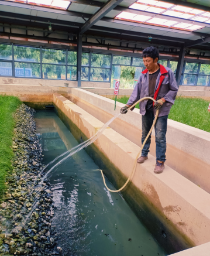
[[[166,131],[167,131],[167,120],[168,115],[163,117],[158,117],[156,124],[154,125],[155,129],[155,138],[156,138],[156,161],[166,161]],[[147,134],[150,131],[154,121],[153,111],[146,111],[145,115],[142,115],[142,144]],[[146,144],[142,149],[142,156],[147,156],[149,153],[151,143],[151,135],[147,139]]]

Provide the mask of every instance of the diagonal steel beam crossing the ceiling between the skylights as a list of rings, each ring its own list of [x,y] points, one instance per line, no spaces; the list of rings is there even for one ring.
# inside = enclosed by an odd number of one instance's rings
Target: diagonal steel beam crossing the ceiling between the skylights
[[[109,0],[106,2],[94,15],[91,16],[91,18],[88,19],[88,21],[82,26],[80,29],[80,33],[83,34],[85,31],[87,31],[91,26],[93,26],[97,21],[99,21],[101,18],[103,18],[107,13],[112,11],[113,8],[115,8],[116,5],[121,4],[123,0]]]

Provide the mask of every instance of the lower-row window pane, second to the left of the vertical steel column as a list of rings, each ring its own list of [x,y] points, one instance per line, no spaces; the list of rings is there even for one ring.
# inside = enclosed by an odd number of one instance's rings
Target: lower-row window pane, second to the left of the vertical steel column
[[[42,65],[43,78],[45,79],[65,79],[66,80],[66,66],[57,65]]]

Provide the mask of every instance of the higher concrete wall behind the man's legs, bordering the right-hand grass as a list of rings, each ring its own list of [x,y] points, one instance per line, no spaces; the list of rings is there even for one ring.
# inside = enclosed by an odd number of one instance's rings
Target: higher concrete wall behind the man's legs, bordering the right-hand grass
[[[77,88],[72,88],[71,97],[69,98],[102,122],[111,119],[124,105],[116,103],[116,111],[114,111],[113,100]],[[129,111],[126,115],[121,115],[112,122],[110,127],[136,145],[142,145],[142,118],[139,110],[135,109]],[[156,156],[154,131],[152,133],[150,154]],[[167,165],[210,193],[209,155],[209,132],[168,120]]]

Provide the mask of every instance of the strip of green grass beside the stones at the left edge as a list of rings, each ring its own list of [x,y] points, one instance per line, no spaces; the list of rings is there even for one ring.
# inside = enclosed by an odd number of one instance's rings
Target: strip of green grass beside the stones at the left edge
[[[5,189],[6,173],[12,168],[13,113],[20,104],[18,97],[0,95],[0,194]]]

